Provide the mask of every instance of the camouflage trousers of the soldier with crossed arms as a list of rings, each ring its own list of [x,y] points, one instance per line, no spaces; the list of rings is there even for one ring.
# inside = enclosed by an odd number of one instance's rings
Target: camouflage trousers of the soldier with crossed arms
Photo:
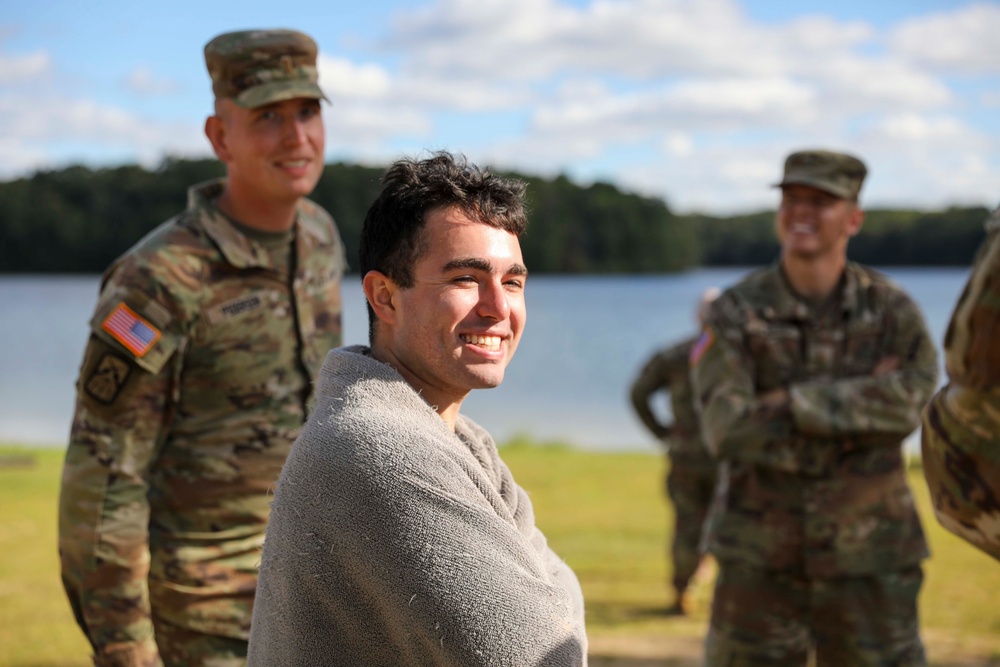
[[[709,667],[924,667],[917,620],[923,572],[805,579],[719,563]]]

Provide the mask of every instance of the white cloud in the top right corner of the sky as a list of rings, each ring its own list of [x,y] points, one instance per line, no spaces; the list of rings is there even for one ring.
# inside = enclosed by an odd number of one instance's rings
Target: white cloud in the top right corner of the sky
[[[889,45],[908,60],[966,73],[1000,72],[1000,6],[967,5],[903,21]]]

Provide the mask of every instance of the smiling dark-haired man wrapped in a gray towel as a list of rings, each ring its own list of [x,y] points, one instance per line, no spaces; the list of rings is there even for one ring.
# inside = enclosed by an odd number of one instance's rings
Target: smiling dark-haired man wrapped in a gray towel
[[[251,665],[582,665],[583,598],[482,427],[525,323],[523,184],[401,160],[365,218],[371,347],[334,350],[275,491]]]

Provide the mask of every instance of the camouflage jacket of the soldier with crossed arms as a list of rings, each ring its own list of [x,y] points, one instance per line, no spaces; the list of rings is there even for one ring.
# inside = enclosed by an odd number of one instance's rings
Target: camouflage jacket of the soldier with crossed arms
[[[708,544],[720,560],[837,577],[927,556],[900,445],[937,352],[902,290],[854,263],[845,274],[816,321],[778,266],[757,271],[713,303],[692,349],[705,441],[724,460]],[[899,367],[873,374],[886,357]],[[786,405],[758,401],[779,388]]]

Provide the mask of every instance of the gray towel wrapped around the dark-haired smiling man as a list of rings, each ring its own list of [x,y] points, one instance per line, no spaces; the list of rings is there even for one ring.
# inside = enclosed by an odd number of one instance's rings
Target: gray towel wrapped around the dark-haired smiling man
[[[331,351],[275,491],[249,664],[585,665],[583,596],[484,429]]]

